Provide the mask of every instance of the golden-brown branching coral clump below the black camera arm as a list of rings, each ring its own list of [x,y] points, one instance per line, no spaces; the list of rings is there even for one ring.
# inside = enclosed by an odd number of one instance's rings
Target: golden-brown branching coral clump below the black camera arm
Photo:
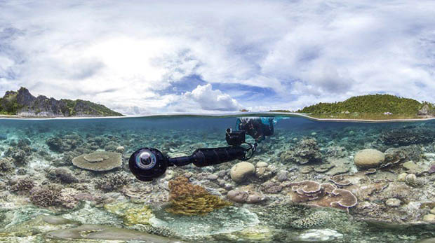
[[[193,185],[185,176],[169,181],[171,205],[166,211],[173,214],[197,215],[208,214],[214,209],[232,205],[208,193],[206,188]]]

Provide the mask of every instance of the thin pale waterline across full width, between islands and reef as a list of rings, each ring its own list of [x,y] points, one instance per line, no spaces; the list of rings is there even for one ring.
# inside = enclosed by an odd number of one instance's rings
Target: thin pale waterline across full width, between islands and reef
[[[343,122],[343,123],[400,123],[400,122],[418,122],[435,120],[431,118],[410,118],[410,119],[386,119],[386,120],[370,120],[370,119],[340,119],[340,118],[315,118],[306,113],[293,113],[293,112],[271,112],[271,111],[258,111],[258,112],[231,112],[231,113],[161,113],[149,114],[142,116],[70,116],[70,117],[23,117],[16,115],[0,115],[0,120],[17,119],[17,120],[80,120],[80,119],[114,119],[114,118],[159,118],[159,117],[215,117],[225,118],[233,116],[286,116],[286,117],[302,117],[309,120],[319,122]]]

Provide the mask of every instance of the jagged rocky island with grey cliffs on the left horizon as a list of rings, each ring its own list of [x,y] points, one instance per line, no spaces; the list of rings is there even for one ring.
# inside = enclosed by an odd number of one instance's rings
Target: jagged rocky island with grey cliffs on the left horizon
[[[34,97],[27,88],[6,91],[0,98],[0,115],[24,118],[123,116],[102,104],[82,99],[54,99],[44,95]]]

